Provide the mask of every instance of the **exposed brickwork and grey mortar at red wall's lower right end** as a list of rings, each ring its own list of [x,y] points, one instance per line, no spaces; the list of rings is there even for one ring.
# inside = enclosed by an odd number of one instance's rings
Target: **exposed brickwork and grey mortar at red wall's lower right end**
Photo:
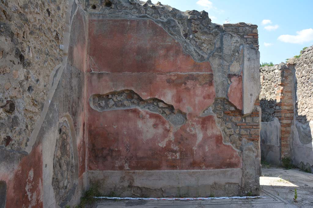
[[[254,105],[252,113],[243,117],[240,109],[228,100],[220,98],[216,98],[214,103],[201,114],[201,116],[215,117],[216,125],[223,135],[223,143],[231,145],[242,157],[244,181],[238,189],[243,195],[250,191],[252,194],[259,193],[259,114],[260,107]]]

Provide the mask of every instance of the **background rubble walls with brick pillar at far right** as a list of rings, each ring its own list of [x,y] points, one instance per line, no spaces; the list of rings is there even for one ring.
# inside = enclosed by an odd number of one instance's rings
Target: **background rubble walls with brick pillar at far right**
[[[312,57],[313,46],[287,64],[260,68],[262,158],[276,165],[283,158],[290,158],[294,165],[310,172],[313,159]]]

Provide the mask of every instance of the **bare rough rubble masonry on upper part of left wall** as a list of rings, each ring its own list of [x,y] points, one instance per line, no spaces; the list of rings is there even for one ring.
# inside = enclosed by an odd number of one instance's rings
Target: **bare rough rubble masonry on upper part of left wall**
[[[27,146],[62,62],[67,3],[0,1],[0,146]]]

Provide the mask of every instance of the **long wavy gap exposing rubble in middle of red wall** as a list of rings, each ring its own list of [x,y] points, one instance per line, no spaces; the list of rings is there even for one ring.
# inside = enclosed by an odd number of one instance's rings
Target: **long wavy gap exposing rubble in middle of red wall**
[[[121,90],[107,94],[93,94],[89,99],[90,107],[96,111],[140,108],[162,115],[174,126],[186,123],[186,114],[174,109],[170,104],[157,98],[142,99],[133,90]]]

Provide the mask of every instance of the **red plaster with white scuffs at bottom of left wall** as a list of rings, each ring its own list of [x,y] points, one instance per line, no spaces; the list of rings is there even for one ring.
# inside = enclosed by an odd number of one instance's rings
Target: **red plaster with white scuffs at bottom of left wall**
[[[41,144],[19,162],[14,176],[7,181],[6,208],[43,207]]]

